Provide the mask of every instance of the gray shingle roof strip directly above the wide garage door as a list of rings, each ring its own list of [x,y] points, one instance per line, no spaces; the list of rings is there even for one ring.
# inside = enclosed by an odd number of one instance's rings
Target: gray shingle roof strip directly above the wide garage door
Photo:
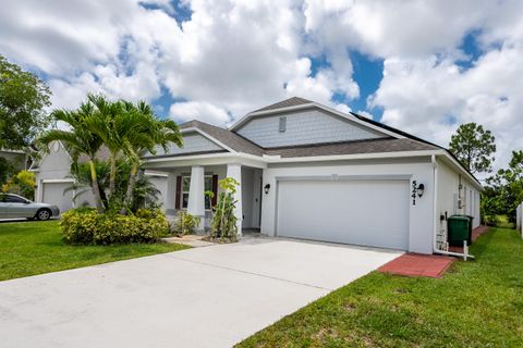
[[[336,144],[323,144],[313,146],[285,147],[266,150],[266,154],[290,157],[313,157],[333,154],[356,154],[356,153],[379,153],[398,151],[423,151],[438,150],[439,148],[429,144],[413,139],[367,139],[357,141],[344,141]]]

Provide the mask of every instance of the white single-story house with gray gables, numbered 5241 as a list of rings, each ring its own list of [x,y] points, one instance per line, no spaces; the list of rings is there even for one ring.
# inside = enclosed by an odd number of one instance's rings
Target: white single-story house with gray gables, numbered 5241
[[[227,129],[199,121],[181,129],[183,148],[144,163],[167,214],[187,210],[205,217],[200,228],[214,204],[204,192],[226,176],[241,183],[239,231],[433,253],[447,216],[479,225],[482,186],[447,149],[354,113],[294,97]],[[42,166],[37,199],[46,201],[59,177]]]

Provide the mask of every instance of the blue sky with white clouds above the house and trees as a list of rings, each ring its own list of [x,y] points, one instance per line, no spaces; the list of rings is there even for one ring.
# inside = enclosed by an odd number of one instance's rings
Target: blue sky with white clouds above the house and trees
[[[0,0],[0,53],[51,87],[226,125],[300,96],[447,146],[523,148],[523,1]]]

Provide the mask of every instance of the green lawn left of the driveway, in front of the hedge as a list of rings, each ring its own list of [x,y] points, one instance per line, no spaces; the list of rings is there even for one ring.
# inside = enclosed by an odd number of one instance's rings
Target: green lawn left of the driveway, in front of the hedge
[[[0,223],[0,281],[186,249],[177,244],[70,246],[58,221]]]

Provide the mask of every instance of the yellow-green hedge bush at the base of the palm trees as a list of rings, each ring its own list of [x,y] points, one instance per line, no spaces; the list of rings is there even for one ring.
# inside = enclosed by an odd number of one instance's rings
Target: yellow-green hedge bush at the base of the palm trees
[[[154,243],[169,233],[169,222],[160,210],[141,209],[134,215],[100,214],[94,209],[70,210],[60,227],[69,244],[110,245]]]

